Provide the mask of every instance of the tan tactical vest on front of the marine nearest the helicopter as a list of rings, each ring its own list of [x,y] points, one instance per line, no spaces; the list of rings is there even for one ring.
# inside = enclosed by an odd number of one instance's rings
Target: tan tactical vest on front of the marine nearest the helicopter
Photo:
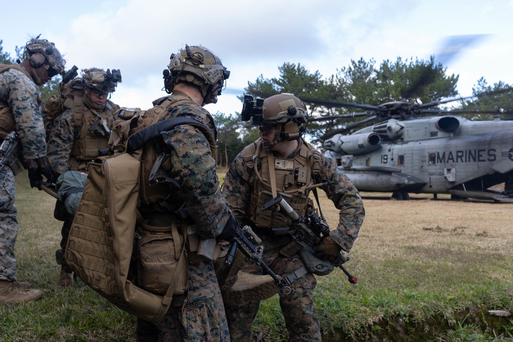
[[[321,153],[313,146],[302,142],[293,158],[275,157],[272,151],[264,148],[262,140],[244,149],[246,165],[257,177],[253,192],[248,201],[251,222],[259,228],[289,227],[290,219],[272,210],[260,208],[277,195],[281,195],[298,214],[314,210],[313,201],[308,197],[313,185],[313,174],[320,172]],[[261,162],[260,171],[257,169]]]

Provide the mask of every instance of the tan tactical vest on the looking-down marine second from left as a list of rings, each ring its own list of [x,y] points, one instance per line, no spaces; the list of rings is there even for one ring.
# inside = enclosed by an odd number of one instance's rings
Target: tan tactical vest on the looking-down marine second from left
[[[114,114],[119,106],[107,100],[105,110],[98,111],[84,105],[84,90],[72,90],[64,102],[73,110],[75,139],[71,148],[69,170],[83,171],[87,164],[108,149]],[[107,130],[108,129],[108,130]]]

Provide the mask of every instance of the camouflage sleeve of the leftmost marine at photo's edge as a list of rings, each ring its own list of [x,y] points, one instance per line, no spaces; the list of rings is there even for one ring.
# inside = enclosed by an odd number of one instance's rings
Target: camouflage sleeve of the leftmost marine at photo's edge
[[[46,133],[38,103],[39,89],[32,80],[17,70],[9,70],[7,87],[9,107],[16,122],[16,132],[23,145],[25,158],[46,155]]]

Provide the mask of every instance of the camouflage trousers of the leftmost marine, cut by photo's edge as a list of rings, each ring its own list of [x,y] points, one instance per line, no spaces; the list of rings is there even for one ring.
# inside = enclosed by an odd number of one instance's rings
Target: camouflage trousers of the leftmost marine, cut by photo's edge
[[[0,280],[9,281],[16,281],[14,244],[19,229],[14,188],[14,175],[5,167],[0,172]]]

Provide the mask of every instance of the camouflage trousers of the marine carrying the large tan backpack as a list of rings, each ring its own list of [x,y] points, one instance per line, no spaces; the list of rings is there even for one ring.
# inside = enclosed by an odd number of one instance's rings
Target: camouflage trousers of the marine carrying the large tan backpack
[[[157,326],[137,318],[136,340],[229,342],[228,324],[212,263],[189,264],[188,292],[173,296]]]

